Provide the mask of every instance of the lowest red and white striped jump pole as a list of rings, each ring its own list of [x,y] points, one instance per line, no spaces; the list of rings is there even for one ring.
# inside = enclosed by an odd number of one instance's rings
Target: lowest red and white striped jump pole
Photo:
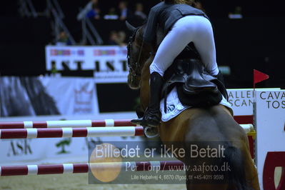
[[[119,165],[118,165],[119,164]],[[0,166],[0,176],[41,175],[41,174],[79,174],[90,169],[112,169],[121,166],[121,171],[177,171],[184,169],[181,161],[126,161],[94,164],[51,164],[26,166]]]

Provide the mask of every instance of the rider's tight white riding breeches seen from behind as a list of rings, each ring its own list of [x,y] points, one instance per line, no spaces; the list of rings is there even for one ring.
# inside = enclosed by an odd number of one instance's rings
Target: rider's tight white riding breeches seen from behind
[[[210,74],[218,74],[216,64],[216,48],[211,22],[204,16],[184,16],[176,21],[172,29],[159,45],[150,72],[158,72],[164,76],[172,62],[181,51],[193,42]]]

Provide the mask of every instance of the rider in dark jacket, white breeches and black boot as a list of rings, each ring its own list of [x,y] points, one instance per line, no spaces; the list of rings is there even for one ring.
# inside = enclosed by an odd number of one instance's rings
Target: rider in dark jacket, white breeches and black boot
[[[164,71],[190,42],[194,43],[209,74],[214,76],[219,74],[211,22],[208,16],[194,8],[193,4],[194,0],[164,0],[151,8],[144,31],[144,43],[151,44],[154,41],[157,26],[163,29],[165,37],[149,68],[151,73],[149,107],[144,117],[132,121],[136,124],[159,125]]]

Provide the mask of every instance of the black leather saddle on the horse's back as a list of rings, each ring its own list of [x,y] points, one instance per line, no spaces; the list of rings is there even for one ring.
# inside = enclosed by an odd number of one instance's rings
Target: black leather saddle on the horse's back
[[[217,76],[209,74],[193,45],[189,44],[164,74],[161,99],[164,98],[165,112],[167,94],[175,86],[179,100],[187,106],[214,106],[222,96],[228,99],[221,72]]]

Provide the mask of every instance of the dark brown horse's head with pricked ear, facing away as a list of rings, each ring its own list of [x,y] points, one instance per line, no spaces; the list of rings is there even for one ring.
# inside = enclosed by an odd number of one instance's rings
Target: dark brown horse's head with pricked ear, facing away
[[[127,28],[133,33],[128,41],[128,84],[131,89],[139,89],[141,70],[144,62],[149,58],[150,48],[143,44],[144,26],[135,28],[126,21]]]

